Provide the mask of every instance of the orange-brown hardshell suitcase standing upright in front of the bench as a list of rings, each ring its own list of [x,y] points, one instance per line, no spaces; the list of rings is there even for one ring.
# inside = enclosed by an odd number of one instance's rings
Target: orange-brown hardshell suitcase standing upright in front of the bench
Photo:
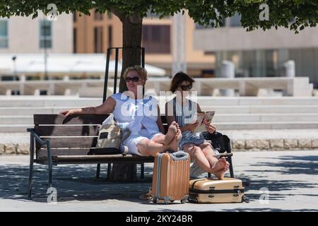
[[[158,153],[153,167],[153,203],[180,200],[185,203],[189,194],[190,157],[182,151]]]

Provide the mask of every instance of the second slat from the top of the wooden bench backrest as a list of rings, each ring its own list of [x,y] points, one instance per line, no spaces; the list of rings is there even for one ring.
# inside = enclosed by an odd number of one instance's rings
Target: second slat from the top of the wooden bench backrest
[[[98,136],[98,126],[34,126],[38,136]]]

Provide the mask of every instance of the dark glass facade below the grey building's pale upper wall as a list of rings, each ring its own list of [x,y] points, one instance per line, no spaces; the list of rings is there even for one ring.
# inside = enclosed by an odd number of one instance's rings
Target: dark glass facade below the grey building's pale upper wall
[[[318,48],[257,49],[246,51],[215,52],[216,76],[220,76],[223,60],[235,64],[235,77],[284,76],[283,63],[295,61],[295,75],[310,78],[318,83]]]

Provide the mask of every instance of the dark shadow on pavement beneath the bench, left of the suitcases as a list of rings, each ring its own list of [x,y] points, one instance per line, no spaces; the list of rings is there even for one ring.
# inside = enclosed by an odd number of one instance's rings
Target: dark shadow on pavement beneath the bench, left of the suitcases
[[[101,176],[107,174],[102,165]],[[139,167],[137,167],[139,170]],[[64,165],[53,167],[53,187],[57,201],[106,201],[117,199],[141,202],[141,194],[149,191],[152,167],[145,165],[145,179],[137,182],[108,182],[95,179],[95,165]],[[0,166],[0,198],[27,200],[29,167],[25,165]],[[139,175],[139,172],[137,172]],[[47,167],[35,165],[33,173],[33,201],[47,202]],[[144,201],[147,202],[147,201]]]

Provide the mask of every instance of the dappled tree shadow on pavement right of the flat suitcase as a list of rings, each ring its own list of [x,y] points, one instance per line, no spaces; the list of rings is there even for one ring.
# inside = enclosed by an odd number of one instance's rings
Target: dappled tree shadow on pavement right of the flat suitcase
[[[265,158],[262,158],[264,160]],[[252,180],[249,177],[243,176],[240,177],[245,181],[250,182],[248,190],[257,191],[257,193],[250,193],[248,197],[252,200],[258,200],[261,194],[259,193],[260,189],[269,189],[269,200],[283,200],[287,196],[318,196],[316,194],[288,194],[288,191],[293,191],[296,189],[312,189],[315,191],[318,187],[318,183],[312,179],[310,182],[304,182],[303,177],[300,174],[307,175],[317,175],[318,174],[318,156],[283,156],[276,157],[276,162],[257,162],[257,164],[250,165],[251,167],[256,167],[258,169],[247,169],[245,170],[246,174],[249,172],[256,173],[253,175]],[[268,168],[264,170],[264,167]],[[262,173],[271,172],[277,173],[276,178],[273,179],[264,179],[266,174]],[[294,179],[280,179],[281,174],[295,175]],[[258,179],[257,175],[261,175]],[[297,179],[302,179],[298,181]],[[274,180],[275,179],[275,180]],[[308,179],[309,180],[309,179]],[[284,193],[281,193],[285,191]]]

